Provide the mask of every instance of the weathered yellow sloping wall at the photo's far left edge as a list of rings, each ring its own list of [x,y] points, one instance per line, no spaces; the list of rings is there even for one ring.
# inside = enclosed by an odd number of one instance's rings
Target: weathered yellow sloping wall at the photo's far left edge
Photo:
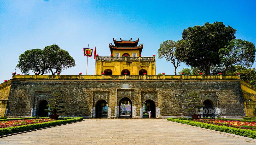
[[[11,81],[0,84],[0,116],[4,116],[9,92],[11,88]]]

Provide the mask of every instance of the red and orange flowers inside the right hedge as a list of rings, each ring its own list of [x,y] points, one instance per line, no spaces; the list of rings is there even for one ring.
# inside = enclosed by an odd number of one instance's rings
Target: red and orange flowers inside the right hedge
[[[250,130],[256,131],[256,121],[246,122],[246,120],[221,120],[221,119],[198,119],[193,121],[215,124],[219,126],[235,127],[240,129],[250,129]]]

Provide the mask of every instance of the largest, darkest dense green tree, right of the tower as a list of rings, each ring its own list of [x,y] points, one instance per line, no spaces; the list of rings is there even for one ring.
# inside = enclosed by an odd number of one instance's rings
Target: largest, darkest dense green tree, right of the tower
[[[175,50],[176,57],[209,75],[211,67],[221,63],[219,50],[235,38],[235,32],[222,22],[188,27],[182,33],[183,42]]]

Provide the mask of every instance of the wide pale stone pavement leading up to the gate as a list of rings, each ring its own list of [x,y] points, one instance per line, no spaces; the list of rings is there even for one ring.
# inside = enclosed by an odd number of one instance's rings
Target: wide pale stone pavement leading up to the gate
[[[256,144],[166,119],[85,119],[0,138],[0,144]]]

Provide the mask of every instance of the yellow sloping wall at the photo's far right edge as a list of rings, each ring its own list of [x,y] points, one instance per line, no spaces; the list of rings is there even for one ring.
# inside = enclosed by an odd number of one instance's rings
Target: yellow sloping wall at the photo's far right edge
[[[246,111],[246,116],[247,117],[256,117],[256,89],[246,83],[245,81],[240,81],[241,82],[241,90],[243,93],[243,98],[244,98],[244,107]]]

